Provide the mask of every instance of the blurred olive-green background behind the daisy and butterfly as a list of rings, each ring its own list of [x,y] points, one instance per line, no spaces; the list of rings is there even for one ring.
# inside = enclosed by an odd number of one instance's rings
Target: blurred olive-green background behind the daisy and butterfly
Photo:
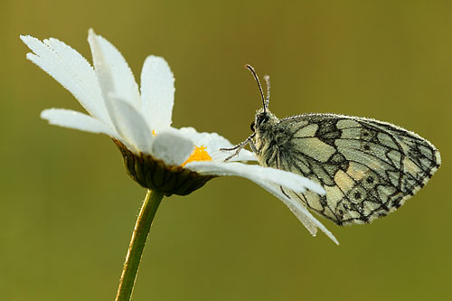
[[[135,300],[445,300],[452,296],[452,2],[76,1],[0,4],[0,299],[112,300],[145,196],[107,136],[51,127],[43,108],[82,110],[25,60],[20,33],[91,61],[113,42],[139,79],[146,55],[175,76],[174,126],[250,134],[250,72],[272,79],[279,117],[334,112],[427,137],[443,165],[399,212],[312,238],[286,206],[240,178],[165,199]]]

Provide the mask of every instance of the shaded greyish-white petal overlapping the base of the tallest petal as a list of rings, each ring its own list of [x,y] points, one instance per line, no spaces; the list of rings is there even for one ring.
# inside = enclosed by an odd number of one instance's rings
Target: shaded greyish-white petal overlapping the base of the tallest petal
[[[127,142],[127,146],[133,146],[132,151],[150,154],[154,137],[140,112],[129,102],[111,94],[108,95],[108,109],[119,135]]]

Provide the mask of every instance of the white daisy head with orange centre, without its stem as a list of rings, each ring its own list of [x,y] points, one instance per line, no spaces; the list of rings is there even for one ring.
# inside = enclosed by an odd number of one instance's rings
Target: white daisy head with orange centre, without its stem
[[[228,154],[220,148],[232,146],[226,138],[216,133],[198,133],[193,127],[171,127],[174,77],[163,58],[153,55],[146,58],[138,90],[121,53],[92,30],[88,42],[94,69],[79,52],[61,41],[50,38],[41,42],[29,35],[22,35],[21,39],[33,51],[27,53],[27,59],[59,81],[89,113],[50,108],[43,110],[41,117],[53,125],[113,138],[124,155],[127,171],[141,185],[156,189],[155,186],[161,187],[157,182],[170,181],[165,174],[155,173],[158,168],[194,181],[192,189],[165,192],[168,195],[190,193],[215,176],[241,176],[285,202],[311,234],[315,235],[319,228],[338,243],[302,204],[288,199],[280,190],[283,186],[295,192],[309,189],[323,194],[322,187],[278,169],[223,162]],[[256,158],[242,150],[231,161],[256,161]]]

